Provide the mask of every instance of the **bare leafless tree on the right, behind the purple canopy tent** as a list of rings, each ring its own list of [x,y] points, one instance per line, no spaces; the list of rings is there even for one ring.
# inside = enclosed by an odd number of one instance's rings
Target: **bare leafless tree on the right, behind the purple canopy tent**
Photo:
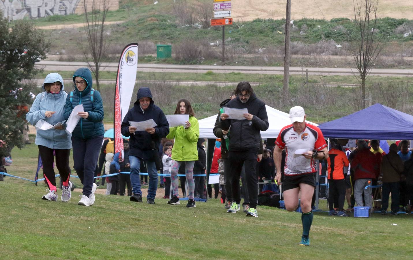
[[[366,79],[370,74],[374,61],[382,50],[377,40],[376,22],[378,0],[353,0],[356,38],[352,41],[351,56],[357,69],[354,76],[361,83],[363,108],[366,107]]]

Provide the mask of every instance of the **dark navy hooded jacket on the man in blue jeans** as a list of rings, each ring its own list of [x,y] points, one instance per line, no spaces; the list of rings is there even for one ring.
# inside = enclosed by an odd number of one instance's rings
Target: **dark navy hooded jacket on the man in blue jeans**
[[[145,110],[145,113],[142,111],[139,103],[139,99],[144,97],[151,99],[150,105]],[[140,122],[149,119],[153,119],[157,124],[157,126],[154,127],[154,134],[149,134],[147,131],[137,131],[133,134],[129,133],[129,126],[131,126],[129,121]],[[169,134],[168,120],[166,120],[164,112],[157,105],[154,105],[152,93],[149,88],[140,88],[138,90],[136,102],[123,119],[121,133],[124,136],[131,137],[129,141],[129,155],[139,157],[143,160],[152,160],[152,153],[147,151],[153,149],[157,150],[159,148],[160,139]],[[154,141],[154,144],[152,144],[152,141]]]

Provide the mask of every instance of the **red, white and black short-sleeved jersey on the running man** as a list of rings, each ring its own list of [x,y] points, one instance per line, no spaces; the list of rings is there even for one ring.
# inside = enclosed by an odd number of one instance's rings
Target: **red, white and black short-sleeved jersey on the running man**
[[[311,124],[306,124],[300,135],[294,130],[292,124],[283,127],[275,144],[281,149],[286,147],[284,174],[294,176],[316,172],[316,159],[306,159],[301,154],[296,155],[296,150],[320,151],[327,146],[321,130]]]

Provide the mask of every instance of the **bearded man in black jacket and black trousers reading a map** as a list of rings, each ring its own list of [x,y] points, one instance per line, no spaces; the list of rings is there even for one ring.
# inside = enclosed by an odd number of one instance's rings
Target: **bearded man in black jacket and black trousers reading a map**
[[[243,120],[229,119],[228,114],[221,113],[222,130],[231,131],[228,147],[230,160],[230,183],[232,198],[235,201],[228,212],[240,210],[240,173],[244,163],[249,196],[249,209],[247,216],[258,217],[256,203],[258,198],[258,179],[256,175],[257,157],[261,143],[260,131],[268,129],[268,116],[265,104],[254,94],[254,90],[247,81],[238,83],[235,89],[237,98],[229,101],[226,107],[247,108]]]

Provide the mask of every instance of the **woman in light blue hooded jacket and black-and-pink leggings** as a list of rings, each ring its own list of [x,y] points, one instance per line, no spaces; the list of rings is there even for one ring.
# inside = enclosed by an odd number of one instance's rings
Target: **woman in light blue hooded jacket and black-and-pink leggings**
[[[44,92],[39,93],[26,114],[26,120],[36,125],[43,120],[51,125],[64,121],[64,105],[67,93],[64,92],[62,76],[58,73],[50,73],[43,83]],[[66,134],[65,124],[48,130],[37,129],[36,145],[39,147],[40,157],[43,163],[43,174],[49,187],[48,193],[42,197],[44,200],[57,201],[57,189],[55,170],[53,169],[53,151],[56,155],[56,167],[63,180],[63,191],[61,199],[66,202],[71,197],[72,183],[69,181],[70,167],[69,155],[72,143]]]

